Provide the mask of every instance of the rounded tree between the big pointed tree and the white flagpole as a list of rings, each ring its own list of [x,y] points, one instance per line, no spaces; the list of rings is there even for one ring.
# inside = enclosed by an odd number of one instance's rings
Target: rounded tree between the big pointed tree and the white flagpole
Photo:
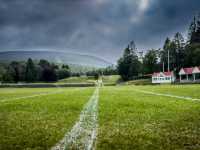
[[[156,50],[150,50],[146,53],[143,59],[143,72],[150,74],[157,71],[158,68],[158,52]]]

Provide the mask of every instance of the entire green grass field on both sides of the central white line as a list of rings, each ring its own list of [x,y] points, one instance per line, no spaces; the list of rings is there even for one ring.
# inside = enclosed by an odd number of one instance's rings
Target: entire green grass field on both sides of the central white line
[[[200,85],[100,88],[96,149],[199,150]],[[56,91],[60,93],[55,93]],[[0,149],[49,149],[78,120],[94,88],[0,90]],[[38,97],[13,99],[36,94]]]

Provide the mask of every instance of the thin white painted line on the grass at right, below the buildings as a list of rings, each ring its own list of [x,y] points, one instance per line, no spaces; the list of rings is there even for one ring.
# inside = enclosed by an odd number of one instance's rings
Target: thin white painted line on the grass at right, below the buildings
[[[184,99],[184,100],[190,100],[190,101],[200,101],[200,99],[198,99],[198,98],[192,98],[192,97],[186,97],[186,96],[163,94],[163,93],[157,93],[157,92],[155,93],[155,92],[143,91],[143,90],[135,90],[135,91],[140,92],[140,93],[145,93],[145,94],[157,95],[157,96],[165,96],[165,97]]]

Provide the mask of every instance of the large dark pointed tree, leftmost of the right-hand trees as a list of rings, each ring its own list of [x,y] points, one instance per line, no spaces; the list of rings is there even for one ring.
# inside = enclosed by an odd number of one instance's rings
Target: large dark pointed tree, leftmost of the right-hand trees
[[[138,76],[140,62],[135,51],[129,46],[124,50],[123,56],[118,60],[118,73],[123,80],[130,80]]]

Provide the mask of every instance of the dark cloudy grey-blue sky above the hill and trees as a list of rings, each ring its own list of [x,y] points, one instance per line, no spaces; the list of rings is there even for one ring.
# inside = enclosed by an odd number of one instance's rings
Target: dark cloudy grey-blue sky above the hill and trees
[[[134,40],[161,48],[187,36],[200,0],[0,0],[0,51],[56,50],[111,62]]]

